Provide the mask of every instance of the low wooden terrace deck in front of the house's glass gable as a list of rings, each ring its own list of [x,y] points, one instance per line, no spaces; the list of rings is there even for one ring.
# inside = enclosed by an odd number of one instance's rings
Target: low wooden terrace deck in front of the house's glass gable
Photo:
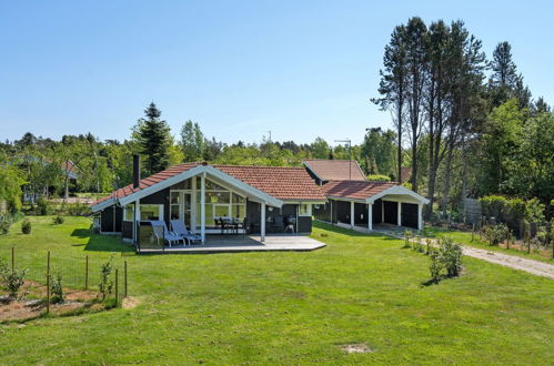
[[[204,245],[173,245],[162,248],[141,248],[141,254],[207,254],[240,252],[311,252],[325,244],[302,234],[268,234],[265,242],[256,235],[208,235]]]

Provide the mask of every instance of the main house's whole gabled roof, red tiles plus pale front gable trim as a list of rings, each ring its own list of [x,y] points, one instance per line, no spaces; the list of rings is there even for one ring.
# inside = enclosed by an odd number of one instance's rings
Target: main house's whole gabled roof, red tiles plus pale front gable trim
[[[184,163],[141,180],[137,189],[130,184],[113,191],[92,203],[91,209],[98,212],[118,202],[125,204],[201,173],[214,175],[231,185],[241,185],[241,189],[272,205],[281,206],[283,201],[325,201],[320,187],[302,167]]]

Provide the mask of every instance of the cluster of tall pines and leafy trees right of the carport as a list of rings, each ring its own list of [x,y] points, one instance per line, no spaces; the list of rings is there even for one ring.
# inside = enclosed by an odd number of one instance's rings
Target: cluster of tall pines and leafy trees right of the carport
[[[493,193],[550,205],[554,118],[532,99],[508,42],[487,60],[463,21],[411,18],[394,28],[380,77],[372,101],[393,116],[396,176],[411,167],[411,189],[431,200],[427,216],[437,197],[443,213]]]

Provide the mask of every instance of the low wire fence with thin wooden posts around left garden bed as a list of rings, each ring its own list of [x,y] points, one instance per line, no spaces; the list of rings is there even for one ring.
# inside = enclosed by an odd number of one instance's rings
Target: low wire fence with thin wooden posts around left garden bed
[[[63,288],[98,292],[100,284],[111,284],[109,297],[121,304],[129,296],[128,263],[121,256],[68,254],[56,251],[32,251],[29,248],[0,248],[0,261],[11,271],[26,271],[24,279],[48,287],[50,281],[60,278]],[[111,271],[102,272],[110,263]],[[103,278],[104,277],[104,278]]]

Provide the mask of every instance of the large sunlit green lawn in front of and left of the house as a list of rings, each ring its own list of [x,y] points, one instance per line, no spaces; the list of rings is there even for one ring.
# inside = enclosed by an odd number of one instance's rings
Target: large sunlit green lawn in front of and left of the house
[[[102,258],[128,250],[89,236],[88,218],[32,222],[29,236],[19,224],[0,236],[0,250]],[[464,276],[425,287],[429,258],[401,250],[401,241],[315,225],[313,236],[328,246],[309,253],[125,256],[141,305],[0,325],[0,364],[554,359],[554,281],[464,257]],[[340,350],[352,343],[374,353]]]

